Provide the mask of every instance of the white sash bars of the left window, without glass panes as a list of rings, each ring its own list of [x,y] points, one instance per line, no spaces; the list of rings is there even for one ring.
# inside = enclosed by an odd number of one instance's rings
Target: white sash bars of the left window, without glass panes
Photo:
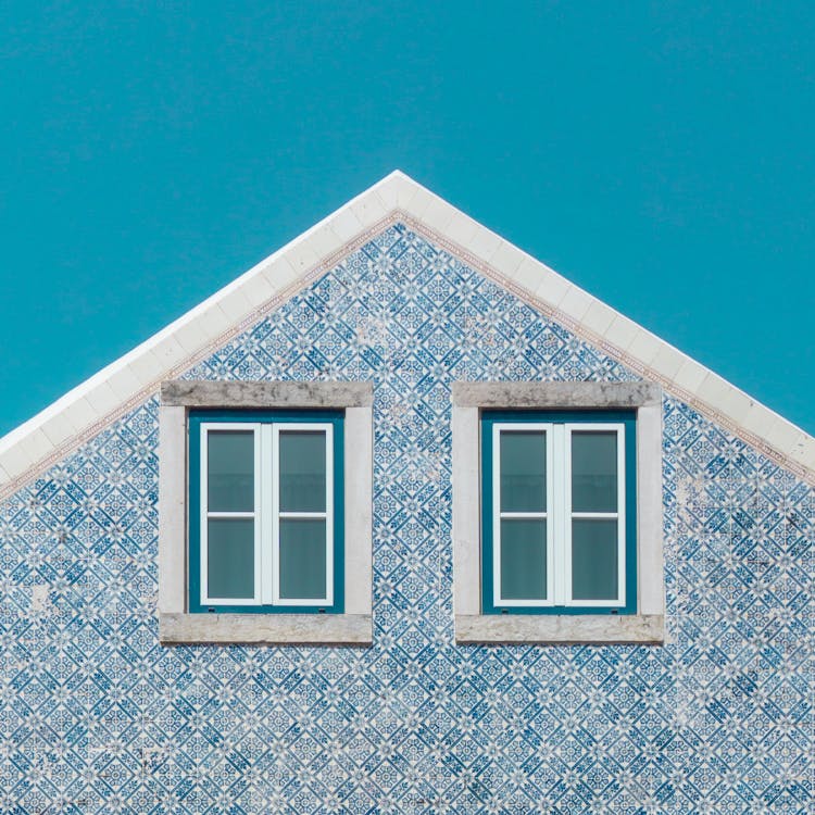
[[[280,512],[279,434],[305,430],[324,434],[326,451],[325,512]],[[208,437],[212,431],[251,431],[254,439],[254,506],[252,512],[209,511]],[[334,425],[330,422],[201,422],[200,424],[200,604],[209,606],[314,606],[334,604]],[[319,518],[325,522],[325,591],[316,598],[280,597],[280,519]],[[212,518],[247,518],[254,522],[254,586],[251,598],[209,594],[209,524]]]

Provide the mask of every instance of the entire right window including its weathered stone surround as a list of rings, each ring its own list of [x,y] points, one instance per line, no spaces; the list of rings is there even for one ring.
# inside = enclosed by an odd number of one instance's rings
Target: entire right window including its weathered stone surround
[[[459,642],[664,639],[662,396],[647,383],[456,383]]]

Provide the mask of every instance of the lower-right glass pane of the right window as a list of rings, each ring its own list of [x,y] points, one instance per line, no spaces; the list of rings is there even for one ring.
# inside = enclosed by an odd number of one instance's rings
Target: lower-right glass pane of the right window
[[[617,599],[617,521],[572,522],[572,598]]]

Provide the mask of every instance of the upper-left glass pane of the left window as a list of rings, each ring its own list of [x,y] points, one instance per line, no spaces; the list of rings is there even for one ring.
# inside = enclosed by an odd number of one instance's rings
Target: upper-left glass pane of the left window
[[[206,506],[210,512],[254,510],[254,432],[206,434]]]

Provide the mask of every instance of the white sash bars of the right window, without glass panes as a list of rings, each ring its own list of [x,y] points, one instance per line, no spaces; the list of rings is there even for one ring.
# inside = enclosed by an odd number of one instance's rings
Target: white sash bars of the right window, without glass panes
[[[523,422],[492,421],[492,605],[506,609],[616,609],[626,605],[626,438],[622,422]],[[505,432],[540,430],[547,439],[547,511],[517,513],[501,511],[501,436]],[[574,512],[572,496],[572,436],[574,432],[614,432],[616,436],[617,496],[614,512]],[[501,594],[501,521],[510,518],[547,522],[547,598],[505,599]],[[612,599],[586,600],[573,597],[573,521],[617,522],[617,593]]]

